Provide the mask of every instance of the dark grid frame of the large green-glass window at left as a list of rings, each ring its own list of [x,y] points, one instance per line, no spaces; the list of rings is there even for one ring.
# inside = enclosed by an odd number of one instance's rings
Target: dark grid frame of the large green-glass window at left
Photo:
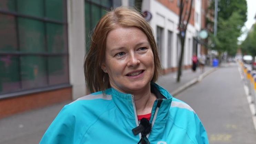
[[[0,56],[17,56],[18,57],[18,71],[19,71],[19,86],[20,90],[18,91],[11,91],[11,92],[1,92],[0,93],[0,99],[8,98],[8,97],[14,97],[14,96],[21,96],[25,94],[31,94],[31,93],[37,93],[37,92],[45,92],[49,90],[55,90],[55,89],[61,89],[61,88],[68,88],[72,87],[69,81],[69,63],[67,63],[67,75],[68,75],[68,81],[65,83],[61,84],[56,84],[56,85],[50,85],[49,83],[49,65],[48,65],[48,57],[49,56],[63,56],[63,58],[66,58],[67,62],[69,62],[69,47],[68,47],[68,9],[67,9],[67,0],[62,0],[63,2],[63,20],[54,20],[46,17],[46,1],[43,0],[43,9],[44,9],[44,16],[42,17],[37,17],[37,16],[30,16],[27,14],[21,14],[18,13],[18,2],[14,2],[14,7],[15,11],[9,11],[9,10],[3,10],[0,8],[0,14],[5,14],[8,16],[13,16],[14,17],[14,24],[15,24],[15,30],[16,30],[16,40],[17,40],[17,50],[15,51],[1,51],[0,50]],[[19,23],[18,23],[18,18],[27,18],[30,20],[37,20],[40,22],[43,22],[44,25],[44,49],[45,52],[21,52],[20,51],[20,38],[19,38]],[[63,41],[65,41],[65,52],[48,52],[48,44],[47,44],[47,23],[53,23],[53,24],[60,24],[64,27],[64,34],[63,34]],[[30,88],[30,89],[22,89],[22,81],[21,81],[21,56],[43,56],[45,57],[46,61],[46,78],[47,78],[47,85],[43,87],[38,87],[38,88]]]

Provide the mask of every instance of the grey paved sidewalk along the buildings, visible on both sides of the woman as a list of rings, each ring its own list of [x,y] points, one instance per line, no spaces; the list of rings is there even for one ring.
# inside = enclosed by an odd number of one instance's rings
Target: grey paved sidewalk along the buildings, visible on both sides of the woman
[[[195,73],[191,69],[183,70],[180,83],[176,83],[177,72],[174,72],[160,76],[157,83],[175,96],[214,70],[214,68],[207,66],[204,73],[201,73],[200,69],[197,69]],[[70,102],[0,119],[0,144],[38,144],[54,117],[65,104]]]

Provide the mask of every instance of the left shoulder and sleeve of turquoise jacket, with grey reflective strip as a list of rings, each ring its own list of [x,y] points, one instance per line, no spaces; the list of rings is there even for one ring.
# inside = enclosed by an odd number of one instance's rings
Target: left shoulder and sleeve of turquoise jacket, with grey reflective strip
[[[88,127],[110,110],[111,95],[96,92],[65,105],[49,126],[40,144],[79,143]]]

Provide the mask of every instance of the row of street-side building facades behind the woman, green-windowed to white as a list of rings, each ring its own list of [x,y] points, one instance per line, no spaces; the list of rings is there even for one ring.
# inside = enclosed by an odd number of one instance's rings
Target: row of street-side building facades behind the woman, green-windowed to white
[[[179,0],[143,0],[160,53],[163,72],[177,69]],[[88,94],[83,61],[90,34],[112,8],[135,0],[1,0],[0,118],[75,100]],[[183,65],[189,68],[201,45],[202,0],[194,0]]]

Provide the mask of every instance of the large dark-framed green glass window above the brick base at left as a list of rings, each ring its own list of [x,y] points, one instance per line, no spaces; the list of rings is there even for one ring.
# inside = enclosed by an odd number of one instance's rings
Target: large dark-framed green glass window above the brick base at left
[[[69,84],[66,0],[0,0],[1,94]]]

